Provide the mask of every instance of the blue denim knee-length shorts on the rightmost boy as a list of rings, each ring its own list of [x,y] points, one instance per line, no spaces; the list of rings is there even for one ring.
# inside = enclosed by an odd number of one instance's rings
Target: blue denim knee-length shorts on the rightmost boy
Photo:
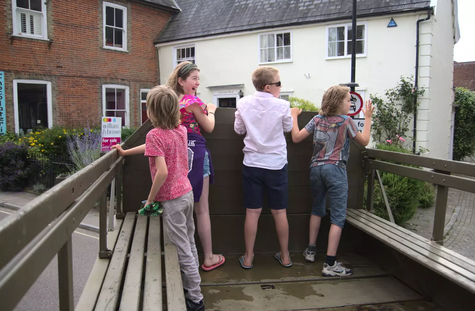
[[[326,196],[330,198],[330,222],[343,227],[348,200],[346,170],[335,164],[323,164],[310,168],[310,187],[314,203],[312,215],[326,215]]]

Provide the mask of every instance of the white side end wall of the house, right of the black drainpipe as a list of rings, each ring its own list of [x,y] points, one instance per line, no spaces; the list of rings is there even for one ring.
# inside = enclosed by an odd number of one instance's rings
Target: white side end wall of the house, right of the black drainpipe
[[[447,159],[450,148],[453,102],[454,33],[452,1],[438,0],[435,19],[421,23],[419,53],[420,97],[416,149],[427,148],[427,156]],[[425,18],[421,15],[420,18]]]

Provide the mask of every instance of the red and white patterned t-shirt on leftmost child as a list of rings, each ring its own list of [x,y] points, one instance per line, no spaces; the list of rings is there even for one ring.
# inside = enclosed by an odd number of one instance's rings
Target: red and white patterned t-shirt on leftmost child
[[[152,181],[157,168],[154,157],[164,157],[168,175],[161,186],[155,201],[163,202],[179,198],[191,191],[188,180],[188,141],[184,126],[173,130],[154,128],[145,139],[145,156],[149,157]]]

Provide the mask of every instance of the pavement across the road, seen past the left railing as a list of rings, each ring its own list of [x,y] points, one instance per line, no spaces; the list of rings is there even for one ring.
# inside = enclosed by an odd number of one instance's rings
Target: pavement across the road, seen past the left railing
[[[19,210],[37,197],[37,195],[25,191],[0,191],[0,207]],[[109,202],[107,202],[107,217],[109,217]],[[99,232],[99,210],[92,207],[79,227]]]

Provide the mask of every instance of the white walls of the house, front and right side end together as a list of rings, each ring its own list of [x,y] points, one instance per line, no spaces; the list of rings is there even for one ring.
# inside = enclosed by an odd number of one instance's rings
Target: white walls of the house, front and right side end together
[[[450,41],[452,44],[447,43],[447,25],[450,21],[445,15],[450,15],[451,11],[445,7],[438,8],[438,22],[425,35],[426,38],[421,38],[428,40],[424,41],[427,47],[420,51],[421,56],[427,55],[425,60],[421,57],[421,66],[428,68],[420,69],[419,87],[431,89],[425,94],[427,104],[421,103],[420,107],[418,123],[426,121],[426,124],[421,125],[418,143],[430,150],[429,156],[438,158],[447,157],[447,129],[450,127],[447,123],[450,120],[447,114],[447,96],[450,95],[447,94],[452,87],[452,75],[448,69],[452,68],[453,40]],[[423,14],[419,12],[392,16],[398,25],[393,28],[387,27],[391,16],[359,20],[368,22],[367,56],[356,58],[356,82],[360,84],[360,88],[365,89],[363,100],[369,99],[370,94],[384,96],[384,91],[395,87],[401,76],[415,74],[416,21]],[[351,80],[351,58],[326,59],[326,25],[328,24],[276,29],[292,29],[293,62],[267,65],[280,70],[282,91],[293,91],[293,96],[308,99],[317,106],[320,106],[323,92],[328,87]],[[212,102],[213,91],[218,91],[208,89],[207,86],[244,84],[244,87],[239,88],[244,95],[254,94],[251,73],[259,66],[258,34],[259,32],[248,32],[159,45],[161,83],[166,82],[174,68],[173,47],[194,44],[196,63],[201,70],[198,95],[203,101]],[[437,53],[434,47],[437,47]],[[305,75],[309,74],[310,79],[307,79]],[[442,75],[444,77],[439,79]],[[237,91],[238,89],[229,90]],[[440,98],[432,101],[429,112],[428,102],[433,98],[432,94]],[[430,123],[428,120],[431,120]],[[409,127],[412,130],[412,122]]]

